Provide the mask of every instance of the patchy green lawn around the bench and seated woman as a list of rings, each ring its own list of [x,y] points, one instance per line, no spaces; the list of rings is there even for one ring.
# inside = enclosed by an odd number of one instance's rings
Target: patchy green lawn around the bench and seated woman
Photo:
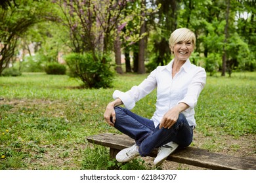
[[[129,90],[144,78],[125,74],[116,76],[114,88],[88,90],[66,75],[0,77],[0,169],[155,169],[143,159],[116,163],[108,159],[107,148],[85,140],[118,133],[104,122],[104,108],[114,90]],[[191,146],[255,157],[255,80],[256,73],[207,77]],[[150,118],[155,94],[139,101],[133,112]]]

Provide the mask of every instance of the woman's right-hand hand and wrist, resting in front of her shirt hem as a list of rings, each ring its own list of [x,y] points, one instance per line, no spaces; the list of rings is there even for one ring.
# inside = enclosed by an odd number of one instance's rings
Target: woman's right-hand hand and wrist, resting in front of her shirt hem
[[[186,103],[179,103],[175,107],[171,108],[168,110],[165,115],[163,115],[163,118],[161,119],[159,128],[161,129],[162,127],[164,128],[171,128],[178,120],[179,114],[183,111],[186,110],[189,106],[186,105]]]

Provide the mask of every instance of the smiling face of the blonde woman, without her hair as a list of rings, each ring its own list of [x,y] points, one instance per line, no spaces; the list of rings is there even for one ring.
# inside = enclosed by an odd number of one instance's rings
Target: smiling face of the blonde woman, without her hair
[[[175,59],[178,61],[186,61],[193,52],[192,41],[180,41],[174,44],[173,52]]]

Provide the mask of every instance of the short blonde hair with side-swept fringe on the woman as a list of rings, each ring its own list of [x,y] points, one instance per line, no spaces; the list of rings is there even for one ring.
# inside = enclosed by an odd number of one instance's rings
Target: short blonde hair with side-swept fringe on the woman
[[[187,28],[176,29],[171,33],[169,38],[169,46],[171,48],[171,54],[174,54],[174,45],[180,41],[192,41],[193,48],[196,47],[196,35]]]

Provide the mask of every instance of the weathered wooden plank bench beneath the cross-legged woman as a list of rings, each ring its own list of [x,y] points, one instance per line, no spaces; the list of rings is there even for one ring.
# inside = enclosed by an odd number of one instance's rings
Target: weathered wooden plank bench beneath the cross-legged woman
[[[101,133],[87,137],[87,141],[93,144],[99,144],[110,148],[110,158],[114,159],[116,154],[123,148],[132,146],[135,141],[127,135],[118,135],[113,133]],[[154,150],[151,157],[156,157],[157,150]],[[185,163],[197,167],[217,170],[255,170],[256,158],[241,158],[217,154],[200,148],[187,147],[176,150],[167,160],[178,163]]]

